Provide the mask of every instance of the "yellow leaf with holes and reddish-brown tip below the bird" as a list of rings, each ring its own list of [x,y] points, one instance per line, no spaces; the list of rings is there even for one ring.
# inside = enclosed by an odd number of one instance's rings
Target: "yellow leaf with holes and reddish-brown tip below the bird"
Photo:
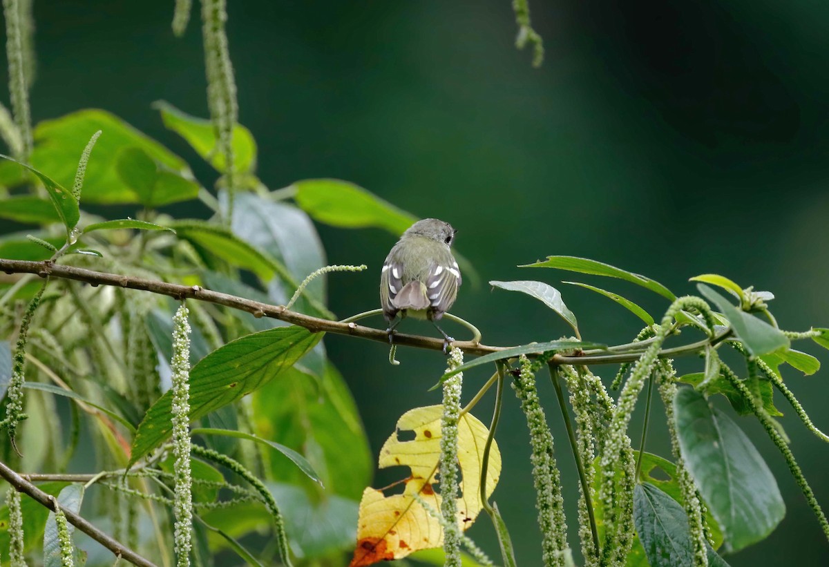
[[[434,491],[440,458],[440,416],[443,405],[429,405],[407,411],[397,422],[397,430],[383,444],[380,468],[409,467],[410,476],[386,489],[403,484],[403,493],[386,496],[383,490],[366,488],[360,502],[357,546],[349,567],[372,565],[378,561],[405,557],[417,550],[440,547],[444,530],[437,518],[425,510],[414,495],[419,495],[440,513],[440,496]],[[414,432],[414,439],[400,440],[401,431]],[[458,423],[458,465],[461,472],[458,498],[458,526],[466,530],[481,511],[481,469],[483,448],[489,430],[471,414]],[[487,497],[501,476],[501,452],[493,441],[487,466]],[[396,492],[396,491],[395,491]]]

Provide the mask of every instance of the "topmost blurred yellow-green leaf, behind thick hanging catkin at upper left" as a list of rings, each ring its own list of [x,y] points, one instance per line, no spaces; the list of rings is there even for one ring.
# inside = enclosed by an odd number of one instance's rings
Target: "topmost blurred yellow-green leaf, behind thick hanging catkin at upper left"
[[[164,126],[184,138],[202,159],[216,168],[217,172],[227,171],[225,156],[216,147],[216,128],[210,120],[185,114],[163,100],[153,104],[153,108],[161,113]],[[253,171],[256,166],[256,142],[250,130],[236,124],[233,128],[231,146],[235,171]]]

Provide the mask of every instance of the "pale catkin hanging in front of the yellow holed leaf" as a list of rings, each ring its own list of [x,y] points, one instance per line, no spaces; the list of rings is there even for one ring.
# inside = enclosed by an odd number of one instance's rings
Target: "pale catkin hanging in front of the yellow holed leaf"
[[[463,364],[463,351],[449,351],[447,372]],[[463,372],[444,381],[444,413],[440,417],[440,513],[448,524],[458,524],[458,420],[461,413]],[[450,567],[461,565],[460,530],[444,530],[444,553]]]

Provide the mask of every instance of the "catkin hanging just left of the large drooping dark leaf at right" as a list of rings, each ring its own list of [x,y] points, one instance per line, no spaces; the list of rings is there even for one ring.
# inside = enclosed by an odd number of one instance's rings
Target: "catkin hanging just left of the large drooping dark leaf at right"
[[[679,483],[682,493],[682,502],[685,504],[685,512],[688,516],[688,527],[691,530],[691,544],[694,546],[694,567],[708,567],[708,550],[706,548],[707,538],[705,533],[705,521],[700,498],[696,492],[696,486],[691,473],[685,466],[679,446],[679,437],[676,434],[676,418],[674,417],[673,399],[676,396],[676,371],[671,361],[660,361],[657,373],[652,380],[659,380],[659,395],[662,397],[662,404],[665,405],[665,419],[668,425],[668,432],[671,434],[671,451],[676,460],[676,481]]]

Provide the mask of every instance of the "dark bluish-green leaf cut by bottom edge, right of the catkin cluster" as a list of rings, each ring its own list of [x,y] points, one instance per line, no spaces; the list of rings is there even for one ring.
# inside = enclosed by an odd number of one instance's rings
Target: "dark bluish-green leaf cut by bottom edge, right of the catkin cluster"
[[[694,547],[688,516],[676,500],[648,482],[633,488],[633,523],[651,567],[694,564]],[[705,545],[708,565],[726,566],[725,560]]]

